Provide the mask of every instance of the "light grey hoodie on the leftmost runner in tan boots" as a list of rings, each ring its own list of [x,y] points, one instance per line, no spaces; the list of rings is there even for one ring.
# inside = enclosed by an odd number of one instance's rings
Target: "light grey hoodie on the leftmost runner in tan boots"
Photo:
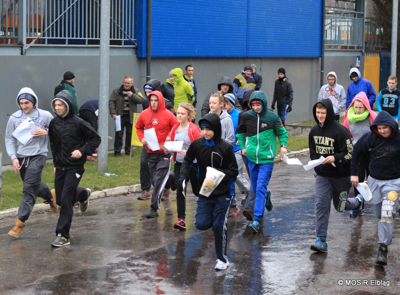
[[[29,93],[36,98],[36,102],[30,113],[25,113],[19,106],[18,97],[22,93]],[[5,148],[7,149],[9,157],[13,160],[16,157],[27,157],[39,154],[47,156],[47,136],[32,137],[25,145],[23,145],[14,137],[14,135],[12,135],[12,132],[27,117],[30,117],[37,127],[47,129],[53,116],[47,110],[37,108],[37,96],[33,90],[28,87],[23,87],[19,90],[19,93],[16,96],[16,104],[18,105],[19,110],[10,115],[5,130]]]

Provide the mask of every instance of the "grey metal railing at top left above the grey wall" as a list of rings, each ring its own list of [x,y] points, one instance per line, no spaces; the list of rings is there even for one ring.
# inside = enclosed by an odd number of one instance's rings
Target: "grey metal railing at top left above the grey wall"
[[[110,44],[135,45],[133,0],[111,0]],[[101,0],[0,0],[0,44],[99,44]]]

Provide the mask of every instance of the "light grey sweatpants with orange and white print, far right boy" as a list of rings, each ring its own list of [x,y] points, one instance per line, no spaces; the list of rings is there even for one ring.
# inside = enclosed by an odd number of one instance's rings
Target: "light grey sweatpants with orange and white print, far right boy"
[[[368,176],[368,186],[372,192],[372,208],[378,217],[378,243],[389,245],[393,230],[393,219],[400,209],[400,178],[378,180]]]

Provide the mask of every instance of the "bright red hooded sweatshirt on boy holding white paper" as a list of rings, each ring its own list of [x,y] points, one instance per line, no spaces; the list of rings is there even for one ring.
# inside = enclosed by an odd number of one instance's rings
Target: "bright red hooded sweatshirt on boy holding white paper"
[[[137,118],[135,127],[136,133],[139,137],[139,140],[144,137],[144,129],[155,129],[155,134],[157,135],[157,140],[159,145],[163,145],[165,142],[166,136],[168,136],[169,131],[173,127],[174,124],[177,123],[176,117],[165,108],[164,97],[160,91],[155,90],[148,94],[147,99],[150,102],[150,96],[156,95],[158,97],[158,106],[156,110],[153,110],[151,107],[151,103],[148,108],[144,109],[139,117]],[[146,146],[147,152],[151,153],[162,153],[164,152],[162,149],[151,150]]]

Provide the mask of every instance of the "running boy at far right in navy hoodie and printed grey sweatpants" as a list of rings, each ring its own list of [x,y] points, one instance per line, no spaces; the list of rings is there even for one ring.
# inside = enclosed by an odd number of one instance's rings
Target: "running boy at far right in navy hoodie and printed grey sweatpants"
[[[378,113],[354,145],[351,159],[351,183],[358,184],[358,162],[370,150],[368,186],[372,208],[378,217],[379,250],[375,263],[386,265],[387,246],[391,243],[394,214],[400,209],[400,132],[395,119],[386,111]],[[361,180],[362,181],[362,180]]]

